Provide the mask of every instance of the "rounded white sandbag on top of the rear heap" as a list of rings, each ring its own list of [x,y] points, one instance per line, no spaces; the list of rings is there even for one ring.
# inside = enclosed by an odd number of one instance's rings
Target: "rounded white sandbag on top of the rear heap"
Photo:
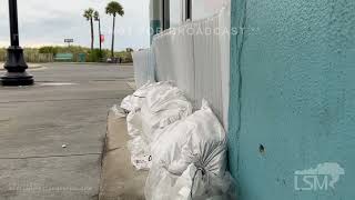
[[[178,88],[159,86],[148,92],[141,113],[143,138],[151,143],[156,130],[190,116],[192,104]]]

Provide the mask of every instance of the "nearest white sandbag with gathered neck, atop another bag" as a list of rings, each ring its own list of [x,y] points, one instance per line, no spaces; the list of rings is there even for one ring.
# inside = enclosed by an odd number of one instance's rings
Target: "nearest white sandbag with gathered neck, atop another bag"
[[[155,163],[164,163],[170,172],[181,174],[187,166],[196,167],[220,176],[226,168],[226,134],[206,101],[201,110],[185,120],[159,131],[152,144]]]

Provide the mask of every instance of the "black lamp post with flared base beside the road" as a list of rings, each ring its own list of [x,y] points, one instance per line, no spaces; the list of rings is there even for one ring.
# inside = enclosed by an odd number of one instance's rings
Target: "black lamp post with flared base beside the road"
[[[18,3],[17,0],[9,0],[10,12],[10,40],[8,48],[8,58],[4,69],[8,72],[1,77],[2,86],[30,86],[33,84],[33,77],[26,72],[28,66],[23,58],[23,49],[19,46],[19,26],[18,26]]]

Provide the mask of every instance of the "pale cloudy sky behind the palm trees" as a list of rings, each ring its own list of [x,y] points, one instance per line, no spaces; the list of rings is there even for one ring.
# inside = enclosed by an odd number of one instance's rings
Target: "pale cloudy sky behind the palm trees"
[[[111,0],[18,0],[21,47],[45,44],[64,46],[64,39],[74,44],[90,47],[90,22],[83,10],[93,8],[101,14],[101,29],[105,37],[103,48],[111,48],[112,17],[104,12]],[[149,47],[149,0],[118,0],[124,17],[116,17],[115,50]],[[94,23],[95,47],[99,28]],[[0,1],[0,47],[9,46],[8,0]]]

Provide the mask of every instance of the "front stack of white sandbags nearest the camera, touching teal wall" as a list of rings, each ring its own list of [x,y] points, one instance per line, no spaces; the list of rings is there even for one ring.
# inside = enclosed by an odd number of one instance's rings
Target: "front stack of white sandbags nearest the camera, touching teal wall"
[[[187,118],[159,130],[151,147],[148,200],[235,199],[226,171],[226,134],[207,102]]]

